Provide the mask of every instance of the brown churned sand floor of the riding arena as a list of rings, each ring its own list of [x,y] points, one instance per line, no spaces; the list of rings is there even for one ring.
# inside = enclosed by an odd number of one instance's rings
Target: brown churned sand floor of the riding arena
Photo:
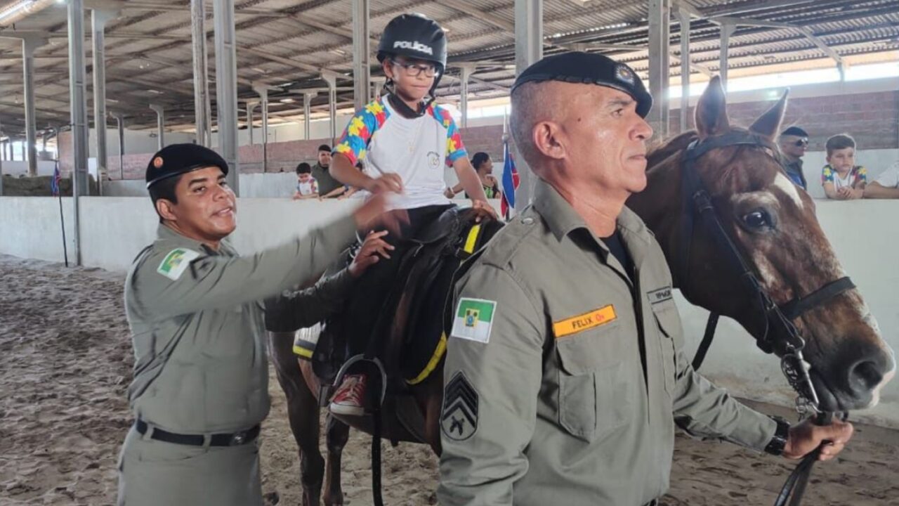
[[[122,277],[0,256],[0,505],[114,504],[116,459],[131,422]],[[293,506],[300,493],[297,447],[273,374],[271,380],[272,411],[261,438],[263,492],[270,504]],[[899,432],[856,429],[841,458],[815,467],[806,504],[899,506]],[[371,504],[369,445],[368,436],[352,432],[343,455],[346,504]],[[435,504],[437,462],[430,450],[384,448],[387,504]],[[663,504],[771,504],[792,466],[679,437]]]

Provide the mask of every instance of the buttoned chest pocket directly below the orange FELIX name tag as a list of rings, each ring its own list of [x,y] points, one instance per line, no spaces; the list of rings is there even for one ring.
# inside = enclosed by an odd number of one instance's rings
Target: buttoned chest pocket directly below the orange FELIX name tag
[[[628,421],[631,400],[619,322],[556,339],[558,422],[586,441],[603,438]]]

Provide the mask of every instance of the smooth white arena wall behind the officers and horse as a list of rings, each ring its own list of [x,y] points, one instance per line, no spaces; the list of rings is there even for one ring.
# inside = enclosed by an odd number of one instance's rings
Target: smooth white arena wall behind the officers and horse
[[[243,185],[243,181],[242,181]],[[82,258],[87,267],[124,271],[155,236],[157,220],[146,197],[84,197],[80,199]],[[233,242],[249,253],[273,246],[293,234],[322,225],[358,201],[304,202],[284,198],[240,198]],[[842,265],[866,297],[885,339],[899,350],[899,309],[896,287],[899,269],[894,233],[896,203],[892,201],[817,201],[823,229]],[[498,203],[496,203],[498,206]],[[69,256],[73,248],[72,199],[63,199]],[[61,262],[58,199],[0,197],[0,253]],[[735,288],[734,288],[735,289]],[[681,308],[692,355],[699,346],[708,312],[682,298]],[[722,319],[718,336],[702,372],[735,395],[763,402],[792,405],[794,395],[779,370],[779,361],[761,353],[734,321]],[[899,379],[889,384],[877,408],[853,413],[853,419],[899,428]]]

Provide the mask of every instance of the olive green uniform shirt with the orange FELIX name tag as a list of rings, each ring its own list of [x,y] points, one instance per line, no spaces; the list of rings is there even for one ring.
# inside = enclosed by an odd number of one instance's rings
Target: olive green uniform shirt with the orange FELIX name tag
[[[442,506],[639,506],[668,489],[675,420],[758,450],[773,437],[773,420],[708,383],[684,356],[652,233],[627,208],[618,230],[634,282],[539,181],[533,206],[460,279],[454,317],[467,298],[494,306],[487,339],[474,331],[483,305],[449,339]]]

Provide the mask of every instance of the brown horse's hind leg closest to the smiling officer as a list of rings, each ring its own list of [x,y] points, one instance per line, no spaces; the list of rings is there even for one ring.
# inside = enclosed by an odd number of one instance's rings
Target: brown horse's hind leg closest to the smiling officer
[[[271,358],[278,383],[287,397],[290,431],[299,447],[299,474],[303,488],[303,506],[319,506],[325,459],[318,449],[320,431],[318,402],[303,377],[298,358],[293,354],[293,332],[269,332]]]

